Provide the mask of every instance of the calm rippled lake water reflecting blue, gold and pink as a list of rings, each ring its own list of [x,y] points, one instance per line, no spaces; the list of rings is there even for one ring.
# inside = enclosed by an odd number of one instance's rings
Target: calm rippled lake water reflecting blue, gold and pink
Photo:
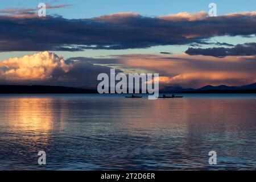
[[[256,95],[184,96],[0,95],[0,169],[256,169]]]

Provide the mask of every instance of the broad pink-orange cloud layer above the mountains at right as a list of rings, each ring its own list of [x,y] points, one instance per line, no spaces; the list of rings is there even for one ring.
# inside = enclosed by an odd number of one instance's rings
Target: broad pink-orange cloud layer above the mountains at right
[[[189,55],[117,55],[93,60],[97,64],[117,64],[126,70],[159,73],[161,85],[200,88],[212,85],[246,85],[256,82],[255,56],[223,58]]]

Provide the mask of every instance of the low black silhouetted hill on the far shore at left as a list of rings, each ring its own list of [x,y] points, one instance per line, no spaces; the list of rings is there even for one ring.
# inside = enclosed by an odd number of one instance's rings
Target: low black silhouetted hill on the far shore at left
[[[79,89],[66,86],[44,85],[0,85],[0,93],[97,93],[97,90]]]

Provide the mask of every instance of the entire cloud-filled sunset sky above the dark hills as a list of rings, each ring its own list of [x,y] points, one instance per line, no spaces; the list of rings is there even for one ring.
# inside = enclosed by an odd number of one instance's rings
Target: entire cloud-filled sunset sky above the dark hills
[[[37,14],[42,2],[46,17]],[[255,7],[254,0],[1,1],[0,84],[93,86],[110,68],[159,73],[162,86],[252,84]]]

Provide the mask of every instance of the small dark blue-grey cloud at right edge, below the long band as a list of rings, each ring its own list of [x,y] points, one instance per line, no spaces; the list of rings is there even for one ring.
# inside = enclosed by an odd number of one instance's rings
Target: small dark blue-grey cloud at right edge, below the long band
[[[188,48],[185,51],[188,55],[204,55],[204,56],[255,56],[256,43],[237,44],[232,48],[214,47],[214,48]]]

